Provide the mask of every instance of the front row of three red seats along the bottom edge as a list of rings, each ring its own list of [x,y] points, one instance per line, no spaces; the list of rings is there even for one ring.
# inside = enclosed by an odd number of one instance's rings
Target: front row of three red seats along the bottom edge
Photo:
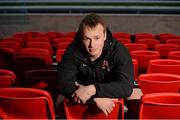
[[[65,100],[66,118],[124,119],[123,100],[113,101],[115,107],[106,116],[93,103],[81,105]],[[179,93],[145,94],[140,101],[139,119],[179,119],[179,101]],[[55,111],[50,94],[39,89],[0,88],[0,109],[0,118],[2,119],[55,119]],[[14,109],[16,109],[16,112],[14,112]]]

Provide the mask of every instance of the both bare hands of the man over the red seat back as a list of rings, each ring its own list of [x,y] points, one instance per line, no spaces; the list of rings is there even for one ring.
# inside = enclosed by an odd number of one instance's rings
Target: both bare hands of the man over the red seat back
[[[96,94],[96,88],[94,85],[84,86],[77,82],[75,82],[75,85],[78,86],[78,89],[72,94],[72,97],[77,103],[85,104],[93,95]],[[94,98],[93,101],[106,116],[111,113],[115,107],[111,98]]]

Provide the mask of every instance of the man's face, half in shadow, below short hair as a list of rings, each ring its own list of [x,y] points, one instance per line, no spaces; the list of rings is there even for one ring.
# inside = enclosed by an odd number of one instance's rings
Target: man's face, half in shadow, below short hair
[[[105,40],[106,34],[101,24],[97,24],[94,28],[85,27],[82,41],[92,60],[100,57]]]

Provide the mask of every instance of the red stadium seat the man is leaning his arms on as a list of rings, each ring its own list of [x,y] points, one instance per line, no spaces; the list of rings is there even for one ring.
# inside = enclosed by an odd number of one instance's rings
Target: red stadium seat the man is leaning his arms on
[[[124,119],[124,102],[114,100],[115,107],[113,111],[106,116],[96,104],[90,103],[86,105],[77,104],[73,101],[64,101],[64,108],[67,119]],[[119,116],[118,116],[119,115]]]

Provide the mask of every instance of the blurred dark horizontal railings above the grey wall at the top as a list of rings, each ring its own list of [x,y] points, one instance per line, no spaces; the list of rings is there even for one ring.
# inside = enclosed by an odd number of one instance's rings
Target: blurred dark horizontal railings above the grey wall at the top
[[[180,14],[180,1],[162,0],[0,0],[9,13]]]

